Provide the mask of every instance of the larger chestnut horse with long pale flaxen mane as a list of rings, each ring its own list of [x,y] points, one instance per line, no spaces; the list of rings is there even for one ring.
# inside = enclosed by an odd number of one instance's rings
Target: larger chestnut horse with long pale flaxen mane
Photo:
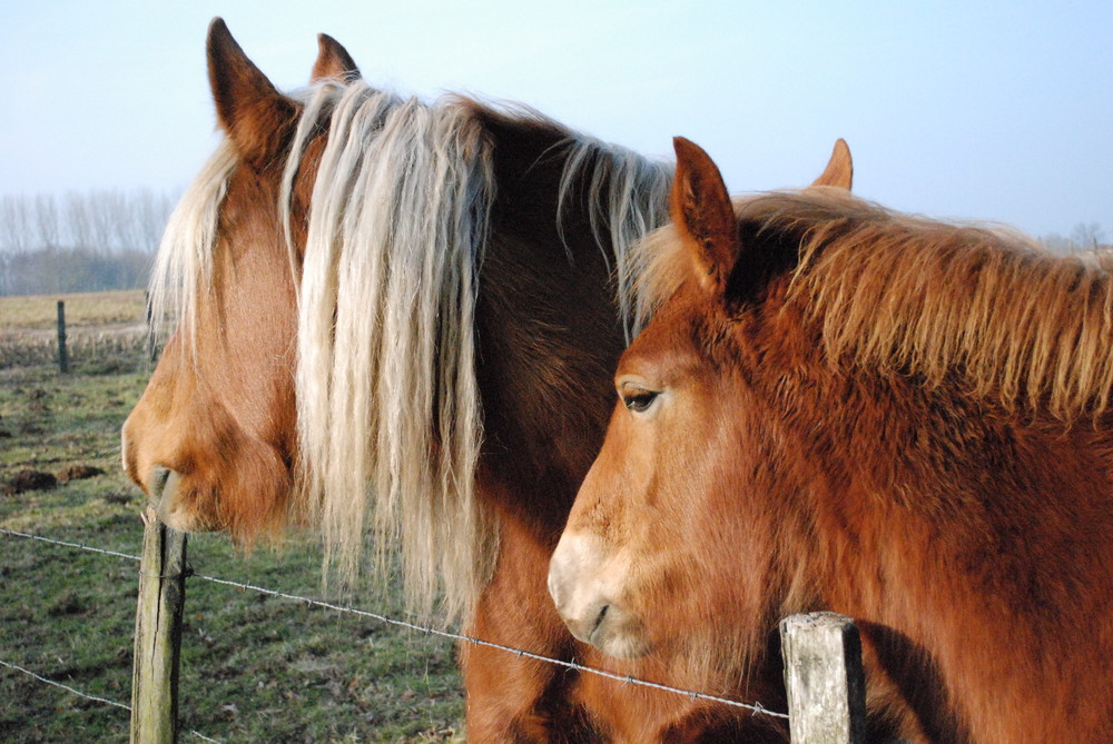
[[[176,330],[122,429],[159,518],[244,546],[319,528],[342,576],[400,552],[420,616],[667,681],[575,641],[545,573],[633,330],[628,246],[667,220],[672,167],[523,106],[376,90],[325,34],[288,95],[219,19],[207,58],[224,138],[159,248]],[[840,142],[818,180],[851,177]],[[750,726],[487,646],[461,664],[473,741]]]

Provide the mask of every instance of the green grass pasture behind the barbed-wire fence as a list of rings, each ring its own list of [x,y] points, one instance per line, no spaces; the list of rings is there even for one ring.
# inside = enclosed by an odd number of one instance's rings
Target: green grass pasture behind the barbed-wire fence
[[[56,298],[47,299],[52,309]],[[141,314],[142,298],[90,296],[72,307],[95,329],[128,323],[127,313]],[[0,345],[18,357],[22,330],[51,321],[3,298]],[[76,371],[65,376],[49,363],[0,367],[0,482],[23,469],[58,475],[73,465],[104,473],[45,490],[0,490],[0,527],[138,555],[142,495],[120,472],[118,431],[149,374],[142,347],[97,358],[76,349],[71,357]],[[308,539],[243,555],[221,535],[191,536],[188,558],[197,574],[404,618],[390,592],[325,596],[319,553]],[[0,534],[0,662],[128,704],[137,574],[127,558]],[[462,737],[463,697],[449,641],[198,577],[186,585],[183,637],[183,726],[214,740]],[[127,711],[0,666],[0,741],[127,738]],[[181,741],[200,740],[184,733]]]

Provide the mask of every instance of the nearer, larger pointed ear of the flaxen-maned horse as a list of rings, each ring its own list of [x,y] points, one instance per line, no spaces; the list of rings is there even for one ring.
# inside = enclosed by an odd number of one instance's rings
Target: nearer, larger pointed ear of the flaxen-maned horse
[[[255,165],[270,160],[297,118],[297,107],[247,59],[223,19],[213,19],[207,49],[220,127],[242,158]]]

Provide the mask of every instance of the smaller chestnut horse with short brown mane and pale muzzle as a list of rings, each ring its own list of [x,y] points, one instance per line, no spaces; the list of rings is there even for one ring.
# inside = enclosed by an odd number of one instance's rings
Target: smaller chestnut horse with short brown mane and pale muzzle
[[[699,684],[834,611],[892,736],[1113,741],[1109,264],[847,191],[732,202],[676,151],[550,565],[570,631]]]

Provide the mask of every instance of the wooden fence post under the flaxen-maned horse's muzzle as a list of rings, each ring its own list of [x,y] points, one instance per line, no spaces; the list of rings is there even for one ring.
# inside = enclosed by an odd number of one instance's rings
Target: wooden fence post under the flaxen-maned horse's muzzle
[[[131,671],[131,744],[178,741],[178,656],[186,596],[186,536],[144,516]]]

